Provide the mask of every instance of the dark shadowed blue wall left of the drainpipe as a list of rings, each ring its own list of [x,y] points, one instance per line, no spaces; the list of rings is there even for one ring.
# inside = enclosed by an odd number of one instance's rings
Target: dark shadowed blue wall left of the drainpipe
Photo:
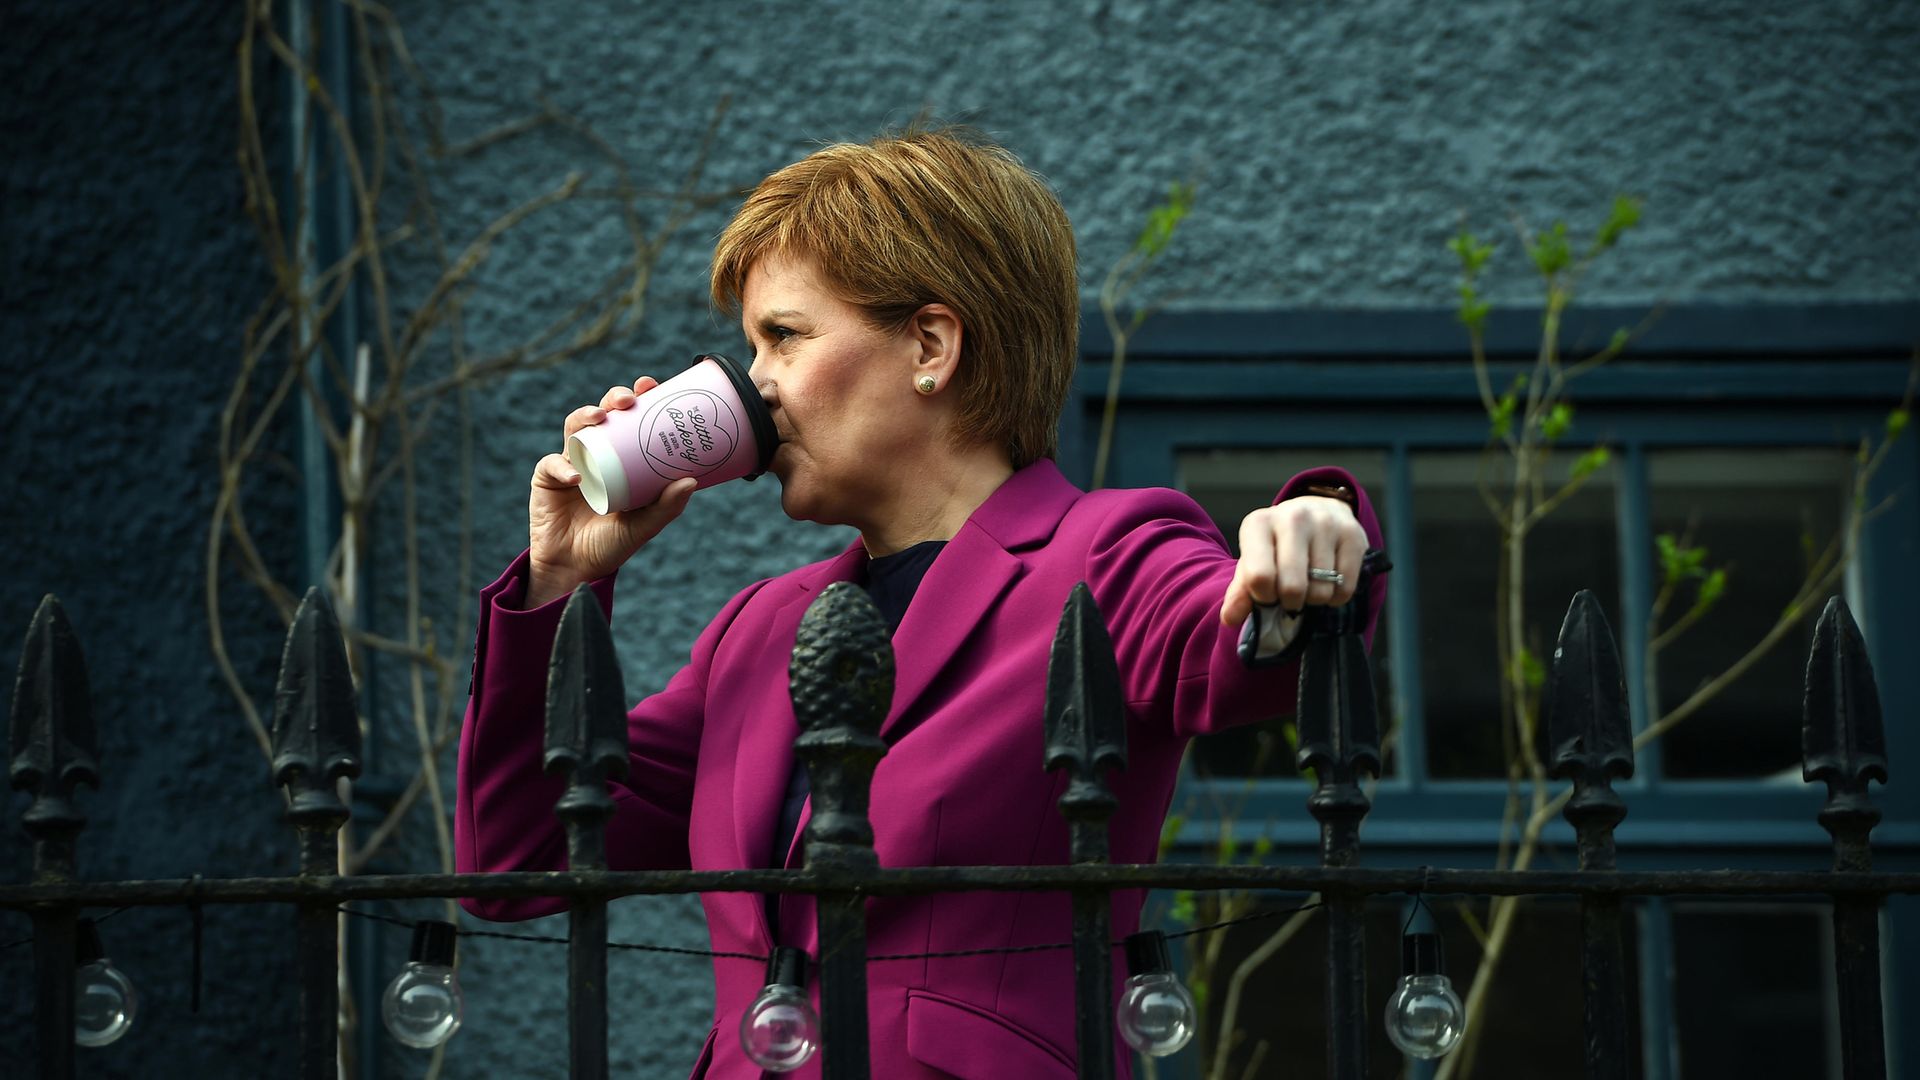
[[[234,167],[240,8],[21,0],[0,25],[8,698],[27,623],[54,592],[86,651],[100,728],[81,874],[286,872],[282,803],[215,675],[202,588],[219,409],[265,294]],[[276,573],[296,557],[282,523],[298,515],[298,482],[282,473],[255,492]],[[280,632],[250,586],[228,578],[227,592],[236,667],[265,696]],[[0,880],[21,882],[27,799],[4,805]],[[125,1040],[81,1051],[81,1074],[273,1072],[296,1001],[286,926],[284,909],[207,909],[192,1015],[186,913],[131,909],[102,924],[142,1009]],[[27,934],[27,919],[0,917],[0,942]],[[35,1072],[31,1017],[33,953],[0,951],[0,1074]]]

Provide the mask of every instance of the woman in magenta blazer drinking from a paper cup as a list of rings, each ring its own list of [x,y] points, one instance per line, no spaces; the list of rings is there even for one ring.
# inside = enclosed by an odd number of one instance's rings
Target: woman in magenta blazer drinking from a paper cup
[[[1077,352],[1073,234],[1037,175],[960,133],[829,146],[774,173],[720,236],[712,296],[739,311],[780,430],[770,469],[781,509],[860,538],[743,590],[666,688],[634,707],[609,863],[799,865],[806,798],[785,671],[808,601],[837,580],[866,584],[895,626],[889,749],[872,792],[881,865],[1068,861],[1058,784],[1041,769],[1041,711],[1052,632],[1079,580],[1110,625],[1129,705],[1114,859],[1152,861],[1187,740],[1292,698],[1290,665],[1254,671],[1236,657],[1254,607],[1352,598],[1363,552],[1380,542],[1352,477],[1294,477],[1275,505],[1246,515],[1238,559],[1187,496],[1073,488],[1052,463]],[[651,386],[614,386],[568,415],[564,432]],[[564,865],[559,782],[540,773],[561,603],[588,582],[611,609],[612,573],[685,509],[693,486],[599,517],[578,480],[563,455],[540,461],[530,550],[482,592],[461,734],[461,871]],[[716,951],[764,955],[778,942],[818,959],[810,897],[703,903]],[[467,907],[524,919],[561,905]],[[1139,915],[1139,894],[1116,896],[1117,934]],[[868,922],[872,953],[1069,936],[1068,897],[1052,894],[877,899]],[[716,1024],[695,1076],[758,1076],[733,1032],[762,974],[755,961],[714,961]],[[1073,1074],[1066,951],[874,961],[868,986],[876,1076]]]

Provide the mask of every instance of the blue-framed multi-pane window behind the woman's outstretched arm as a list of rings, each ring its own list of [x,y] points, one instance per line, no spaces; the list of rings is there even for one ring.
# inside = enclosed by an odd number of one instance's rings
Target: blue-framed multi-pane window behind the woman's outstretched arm
[[[1526,552],[1530,651],[1548,657],[1572,594],[1594,590],[1626,661],[1636,730],[1743,661],[1768,634],[1809,557],[1824,552],[1847,517],[1860,440],[1880,436],[1907,384],[1908,344],[1860,346],[1887,361],[1805,359],[1774,344],[1778,334],[1740,329],[1763,325],[1768,313],[1709,315],[1695,327],[1686,311],[1668,311],[1665,323],[1678,340],[1693,342],[1695,357],[1699,340],[1709,338],[1715,350],[1778,356],[1617,363],[1582,380],[1567,444],[1605,442],[1613,465],[1561,505]],[[1849,319],[1828,319],[1834,340],[1859,336]],[[1110,482],[1185,488],[1233,542],[1238,519],[1271,500],[1292,473],[1325,463],[1356,473],[1396,563],[1375,648],[1382,732],[1392,734],[1382,748],[1384,776],[1371,788],[1361,861],[1488,867],[1501,838],[1505,771],[1492,609],[1498,527],[1476,480],[1486,417],[1457,354],[1413,359],[1432,340],[1457,340],[1438,317],[1419,332],[1413,317],[1380,329],[1369,315],[1352,315],[1342,332],[1329,329],[1334,321],[1300,317],[1298,329],[1288,317],[1265,327],[1252,317],[1215,325],[1158,315],[1167,344],[1162,356],[1135,344]],[[1728,332],[1753,340],[1728,342]],[[1290,354],[1290,346],[1273,344],[1294,338],[1308,344]],[[1369,340],[1380,342],[1379,357],[1367,356]],[[1805,332],[1797,340],[1805,342]],[[1496,380],[1519,367],[1496,371]],[[1075,446],[1091,446],[1096,432],[1106,371],[1087,365],[1079,380],[1085,409],[1069,417],[1064,446],[1068,473],[1085,480],[1085,469],[1075,471]],[[1884,503],[1887,496],[1893,502]],[[1905,773],[1901,763],[1920,761],[1920,730],[1897,721],[1912,713],[1920,694],[1920,675],[1901,659],[1920,655],[1920,452],[1912,436],[1884,465],[1868,503],[1878,509],[1853,552],[1853,569],[1830,592],[1845,592],[1874,651],[1889,759]],[[1703,548],[1703,573],[1726,569],[1720,600],[1665,638],[1663,630],[1688,619],[1701,578],[1690,578],[1655,617],[1663,534]],[[1814,615],[1820,601],[1812,601]],[[1824,792],[1799,774],[1811,632],[1809,617],[1780,634],[1707,707],[1638,753],[1636,776],[1619,784],[1628,803],[1617,834],[1622,867],[1830,865],[1830,840],[1814,822]],[[1175,796],[1185,822],[1171,857],[1213,859],[1227,834],[1238,842],[1236,857],[1248,857],[1260,838],[1269,859],[1317,859],[1317,824],[1304,807],[1309,778],[1292,769],[1288,721],[1283,703],[1265,724],[1194,744]],[[1885,813],[1874,836],[1876,867],[1920,869],[1920,786],[1876,788],[1874,799]],[[1574,865],[1565,822],[1548,828],[1536,865]],[[1450,969],[1465,984],[1478,957],[1475,932],[1457,905],[1434,907]],[[1484,917],[1484,901],[1476,909]],[[1920,999],[1920,978],[1908,974],[1920,970],[1916,909],[1905,899],[1889,903],[1889,1017],[1903,1001]],[[1634,1022],[1647,1080],[1837,1076],[1826,905],[1640,899],[1632,911],[1628,955],[1644,1009]],[[1377,1003],[1398,976],[1404,915],[1396,901],[1380,901],[1369,915],[1369,999]],[[1238,957],[1275,926],[1225,934],[1212,1005],[1221,1003]],[[1576,1076],[1578,909],[1532,901],[1515,932],[1496,984],[1507,1005],[1492,1011],[1503,1026],[1482,1043],[1475,1076]],[[1254,1076],[1319,1074],[1321,947],[1323,926],[1315,922],[1248,980],[1242,1017],[1261,1017],[1263,1030],[1290,1047],[1269,1055]],[[1920,1030],[1889,1020],[1887,1034],[1893,1061],[1920,1059]],[[1229,1074],[1244,1074],[1252,1045],[1238,1045]],[[1160,1074],[1192,1072],[1162,1065]],[[1375,1047],[1373,1074],[1402,1074],[1384,1042]]]

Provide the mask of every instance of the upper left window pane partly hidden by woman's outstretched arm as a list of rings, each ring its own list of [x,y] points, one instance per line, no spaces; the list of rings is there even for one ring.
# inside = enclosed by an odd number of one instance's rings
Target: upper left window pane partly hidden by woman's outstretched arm
[[[1373,500],[1384,525],[1386,454],[1380,450],[1196,450],[1179,457],[1179,486],[1213,519],[1227,546],[1240,552],[1240,519],[1269,505],[1288,477],[1319,465],[1340,465]],[[1394,773],[1388,717],[1394,688],[1388,678],[1386,619],[1373,632],[1373,686],[1380,709],[1382,773]],[[1258,723],[1194,740],[1190,761],[1202,776],[1298,776],[1284,728],[1294,703],[1275,701],[1275,715]]]

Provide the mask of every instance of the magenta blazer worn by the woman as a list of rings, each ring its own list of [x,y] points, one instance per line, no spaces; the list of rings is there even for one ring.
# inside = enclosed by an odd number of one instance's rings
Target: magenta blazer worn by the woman
[[[1340,469],[1294,477],[1354,479]],[[1275,502],[1279,502],[1275,500]],[[1373,546],[1380,527],[1359,496]],[[612,869],[749,869],[774,859],[793,740],[787,661],[806,605],[854,580],[864,552],[762,580],[699,636],[664,690],[628,717],[632,780],[614,786],[607,828]],[[1181,751],[1194,734],[1292,707],[1294,665],[1248,671],[1236,632],[1219,625],[1235,559],[1206,513],[1171,490],[1081,492],[1052,461],[1006,480],[935,559],[895,632],[897,684],[874,773],[874,846],[883,867],[1064,865],[1068,828],[1054,809],[1064,778],[1043,769],[1046,655],[1075,582],[1106,615],[1127,700],[1127,771],[1114,774],[1116,863],[1152,863]],[[472,701],[461,732],[455,851],[463,872],[555,871],[564,836],[561,784],[540,771],[545,669],[563,603],[499,605],[524,590],[526,557],[482,590]],[[1384,580],[1375,582],[1384,590]],[[593,582],[611,611],[612,580]],[[1379,598],[1375,598],[1379,600]],[[1379,611],[1379,603],[1373,605]],[[804,828],[806,815],[801,824]],[[797,867],[797,838],[780,838]],[[772,951],[764,901],[708,894],[716,951]],[[564,901],[463,901],[482,919],[530,919]],[[1142,896],[1116,894],[1114,930],[1139,928]],[[814,901],[780,899],[781,944],[818,959]],[[1068,942],[1062,894],[972,892],[883,897],[868,905],[868,949],[935,953]],[[1116,957],[1117,959],[1117,957]],[[636,961],[637,963],[637,961]],[[1125,978],[1116,967],[1116,986]],[[714,961],[714,1030],[693,1076],[758,1080],[741,1053],[739,1017],[764,965]],[[818,984],[814,984],[818,999]],[[1073,963],[1068,949],[872,961],[874,1076],[1071,1078]],[[618,1017],[612,1022],[639,1022]],[[1125,1047],[1119,1047],[1125,1074]],[[797,1072],[818,1076],[820,1063]]]

